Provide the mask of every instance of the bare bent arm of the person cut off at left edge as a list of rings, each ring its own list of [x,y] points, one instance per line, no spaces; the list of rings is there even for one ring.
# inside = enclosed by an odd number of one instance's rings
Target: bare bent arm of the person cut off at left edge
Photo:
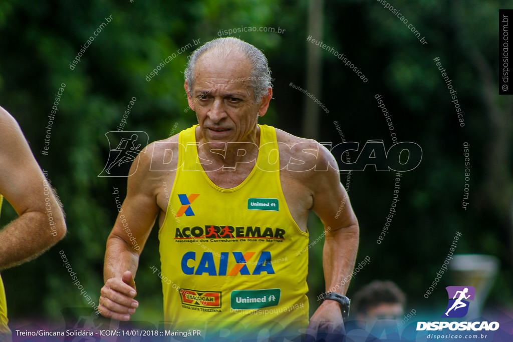
[[[0,230],[0,269],[31,260],[66,234],[61,204],[14,118],[0,107],[0,194],[19,215]]]

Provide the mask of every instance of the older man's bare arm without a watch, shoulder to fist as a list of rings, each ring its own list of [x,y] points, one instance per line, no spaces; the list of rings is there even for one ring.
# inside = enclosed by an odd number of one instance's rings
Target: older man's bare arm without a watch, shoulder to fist
[[[134,160],[128,177],[127,196],[107,238],[104,279],[98,310],[106,317],[129,320],[139,303],[135,273],[139,257],[155,223],[159,206],[156,191],[160,172],[150,171],[153,144]],[[137,171],[135,171],[137,170]]]

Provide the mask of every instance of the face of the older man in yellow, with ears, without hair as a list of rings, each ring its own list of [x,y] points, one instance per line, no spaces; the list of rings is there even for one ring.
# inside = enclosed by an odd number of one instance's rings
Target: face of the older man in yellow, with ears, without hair
[[[228,142],[253,142],[258,115],[267,111],[272,92],[256,102],[250,77],[250,64],[238,52],[220,55],[208,51],[196,63],[187,97],[198,117],[200,138],[211,148],[224,149]],[[185,87],[187,90],[187,83]]]

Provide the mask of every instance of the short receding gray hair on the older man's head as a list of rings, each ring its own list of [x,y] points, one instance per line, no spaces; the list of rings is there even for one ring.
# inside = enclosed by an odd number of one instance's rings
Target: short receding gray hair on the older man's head
[[[189,91],[192,89],[194,83],[194,68],[198,59],[211,49],[228,53],[232,51],[232,48],[246,55],[251,65],[251,74],[250,77],[232,79],[230,82],[245,81],[247,79],[250,86],[253,88],[254,97],[257,102],[260,101],[263,96],[267,95],[268,88],[272,87],[271,70],[269,69],[267,58],[258,48],[234,37],[216,38],[194,50],[185,68],[185,81],[187,81]]]

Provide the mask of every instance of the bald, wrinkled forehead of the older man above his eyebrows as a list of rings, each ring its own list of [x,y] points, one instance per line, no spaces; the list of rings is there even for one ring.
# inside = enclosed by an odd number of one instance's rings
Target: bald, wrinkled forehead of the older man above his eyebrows
[[[242,52],[212,49],[196,62],[192,90],[238,88],[252,92],[251,81],[251,65]]]

